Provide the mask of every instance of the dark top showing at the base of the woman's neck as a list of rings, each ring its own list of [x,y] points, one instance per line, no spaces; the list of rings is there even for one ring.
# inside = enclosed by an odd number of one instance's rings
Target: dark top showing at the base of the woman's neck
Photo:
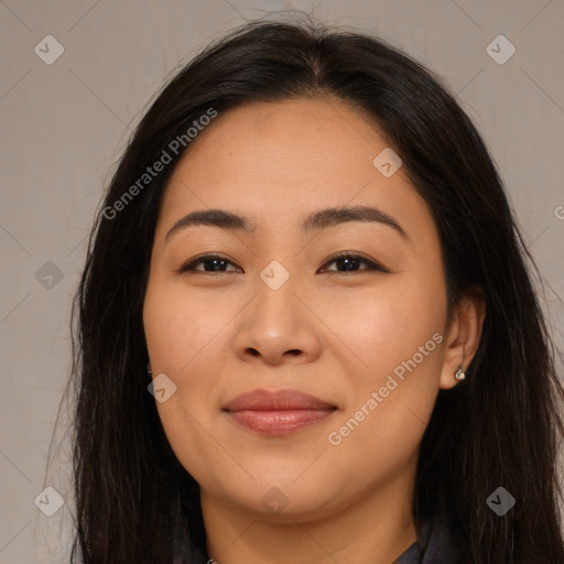
[[[457,529],[451,524],[427,522],[420,539],[391,564],[460,564],[463,555],[464,541]],[[207,564],[214,561],[196,550],[191,562]]]

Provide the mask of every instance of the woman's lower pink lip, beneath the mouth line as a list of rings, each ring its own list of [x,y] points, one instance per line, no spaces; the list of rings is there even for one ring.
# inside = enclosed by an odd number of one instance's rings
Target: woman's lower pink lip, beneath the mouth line
[[[301,429],[319,423],[334,410],[276,410],[230,411],[229,415],[239,425],[263,435],[289,435]]]

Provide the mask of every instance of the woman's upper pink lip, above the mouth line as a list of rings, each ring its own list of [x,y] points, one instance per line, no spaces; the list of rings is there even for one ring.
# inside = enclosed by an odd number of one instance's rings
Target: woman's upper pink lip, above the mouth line
[[[221,408],[224,411],[330,410],[336,405],[297,390],[253,390],[241,393]]]

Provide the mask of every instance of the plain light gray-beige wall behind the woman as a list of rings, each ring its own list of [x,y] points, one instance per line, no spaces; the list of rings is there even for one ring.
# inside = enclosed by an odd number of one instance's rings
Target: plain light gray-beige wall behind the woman
[[[199,47],[245,19],[292,8],[389,40],[457,95],[499,165],[563,347],[562,0],[0,0],[0,563],[67,554],[64,413],[46,468],[70,366],[70,300],[102,186],[131,130]],[[517,50],[505,64],[487,52],[499,34]],[[46,51],[46,35],[64,46],[51,65],[34,52]],[[53,517],[34,505],[47,486],[67,500]]]

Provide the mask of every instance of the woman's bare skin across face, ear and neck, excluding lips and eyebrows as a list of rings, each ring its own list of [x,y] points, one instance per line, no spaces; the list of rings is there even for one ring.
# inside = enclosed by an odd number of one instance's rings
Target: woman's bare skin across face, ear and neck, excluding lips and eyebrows
[[[465,300],[446,325],[438,235],[403,169],[384,177],[372,164],[387,147],[335,98],[253,102],[199,133],[166,188],[144,327],[153,378],[165,373],[176,386],[156,406],[200,485],[208,552],[219,564],[388,564],[416,540],[419,444],[438,390],[470,362],[485,312]],[[355,205],[386,212],[408,239],[380,223],[301,230],[311,212]],[[165,241],[176,220],[208,208],[248,216],[256,231],[193,226]],[[328,262],[339,251],[390,272],[364,262],[347,272]],[[229,262],[178,271],[208,252]],[[278,290],[260,276],[274,260],[290,274]],[[442,343],[332,444],[329,433],[433,335]],[[300,390],[338,410],[291,435],[264,436],[221,411],[256,389]],[[269,491],[280,512],[263,502]]]

